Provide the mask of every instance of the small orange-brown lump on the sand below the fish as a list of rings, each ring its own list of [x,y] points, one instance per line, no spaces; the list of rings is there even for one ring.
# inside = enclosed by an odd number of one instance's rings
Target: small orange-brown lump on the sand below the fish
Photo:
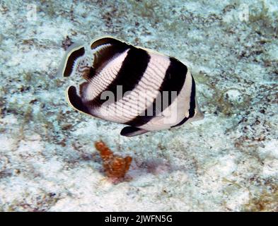
[[[100,152],[100,157],[103,159],[103,168],[107,177],[114,179],[124,178],[124,175],[129,170],[132,157],[114,155],[103,141],[95,142],[95,148]]]

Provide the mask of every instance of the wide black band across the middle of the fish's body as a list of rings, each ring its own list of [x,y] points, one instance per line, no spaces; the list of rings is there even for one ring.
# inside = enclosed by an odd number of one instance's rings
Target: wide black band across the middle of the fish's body
[[[120,71],[117,73],[115,80],[108,85],[106,90],[111,91],[115,97],[117,97],[117,85],[122,85],[123,94],[127,91],[132,91],[144,75],[149,60],[150,56],[144,49],[130,46],[129,51],[127,52],[127,57],[125,57],[122,62]],[[106,101],[100,100],[100,95],[101,93],[88,102],[88,105],[91,105],[91,107],[100,107],[100,105]]]

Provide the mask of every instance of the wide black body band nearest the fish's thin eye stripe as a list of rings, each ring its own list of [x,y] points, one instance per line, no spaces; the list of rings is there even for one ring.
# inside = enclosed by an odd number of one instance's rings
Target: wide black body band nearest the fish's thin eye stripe
[[[175,91],[177,92],[177,96],[179,95],[180,90],[183,88],[183,85],[185,83],[186,73],[187,66],[185,66],[177,59],[170,57],[170,65],[168,66],[166,75],[163,78],[161,87],[158,90],[160,95],[156,97],[151,107],[145,109],[144,116],[137,116],[134,119],[128,121],[126,124],[131,126],[143,126],[144,124],[151,121],[151,119],[156,117],[156,115],[163,112],[163,110],[166,109],[166,107],[170,106],[175,100],[175,98],[171,98],[170,92]],[[168,105],[163,105],[163,102],[166,102],[166,100],[163,100],[163,91],[168,91]],[[160,102],[160,109],[157,109],[158,107],[156,107],[157,102]],[[149,109],[153,110],[153,114],[151,116],[148,116]]]

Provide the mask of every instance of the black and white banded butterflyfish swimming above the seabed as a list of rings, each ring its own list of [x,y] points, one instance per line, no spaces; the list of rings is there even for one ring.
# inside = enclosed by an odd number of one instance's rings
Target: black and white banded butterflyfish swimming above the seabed
[[[69,104],[94,117],[129,125],[122,136],[204,118],[185,64],[113,37],[94,40],[88,50],[83,44],[71,45],[60,73],[86,79],[78,88],[67,88]]]

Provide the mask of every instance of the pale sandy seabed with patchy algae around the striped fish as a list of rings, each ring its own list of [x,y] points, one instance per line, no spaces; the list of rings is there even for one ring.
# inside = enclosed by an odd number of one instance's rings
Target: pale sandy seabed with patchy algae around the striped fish
[[[1,1],[0,210],[278,211],[277,28],[276,0]],[[62,42],[103,35],[183,61],[205,119],[125,138],[71,109]]]

